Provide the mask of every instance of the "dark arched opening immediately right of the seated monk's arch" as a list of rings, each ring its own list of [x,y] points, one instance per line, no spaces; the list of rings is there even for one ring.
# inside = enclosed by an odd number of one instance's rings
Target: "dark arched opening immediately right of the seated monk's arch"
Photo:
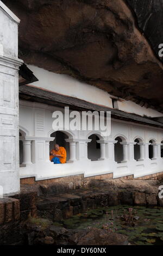
[[[100,143],[97,143],[99,137],[96,134],[92,134],[89,139],[92,141],[87,145],[87,157],[91,161],[97,161],[101,157]]]

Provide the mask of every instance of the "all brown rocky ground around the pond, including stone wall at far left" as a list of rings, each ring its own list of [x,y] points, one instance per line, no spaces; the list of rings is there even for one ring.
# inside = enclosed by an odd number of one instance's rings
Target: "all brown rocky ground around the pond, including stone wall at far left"
[[[158,197],[161,184],[158,180],[94,179],[74,190],[64,183],[22,185],[20,193],[4,198],[7,203],[0,202],[0,245],[128,244],[127,237],[116,231],[98,227],[77,230],[61,223],[87,211],[98,215],[97,211],[110,206],[163,206]]]

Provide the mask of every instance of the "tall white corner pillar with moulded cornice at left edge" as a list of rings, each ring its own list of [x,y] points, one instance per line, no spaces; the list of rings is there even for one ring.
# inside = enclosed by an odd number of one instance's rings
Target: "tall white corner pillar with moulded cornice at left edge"
[[[20,190],[18,136],[18,23],[0,1],[0,187],[4,194]]]

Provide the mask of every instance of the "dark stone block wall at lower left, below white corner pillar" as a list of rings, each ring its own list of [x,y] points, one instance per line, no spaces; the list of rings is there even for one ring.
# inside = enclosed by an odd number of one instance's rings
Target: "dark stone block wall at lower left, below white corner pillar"
[[[21,192],[0,199],[0,245],[26,243],[24,222],[36,217],[37,193]]]

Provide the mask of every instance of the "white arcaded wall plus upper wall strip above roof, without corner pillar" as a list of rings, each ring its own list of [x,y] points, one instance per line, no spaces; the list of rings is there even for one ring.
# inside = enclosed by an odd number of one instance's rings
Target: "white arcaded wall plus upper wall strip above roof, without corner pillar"
[[[111,95],[101,89],[35,66],[29,68],[39,79],[31,85],[34,88],[52,95],[54,92],[58,95],[73,96],[78,100],[114,110]],[[117,105],[123,113],[131,111],[141,117],[143,114],[149,117],[162,116],[153,109],[140,107],[131,101],[117,101]],[[78,174],[88,177],[108,173],[113,173],[113,178],[127,175],[138,178],[162,172],[161,127],[111,118],[111,133],[107,137],[103,136],[101,130],[56,132],[52,128],[54,111],[64,114],[64,108],[52,104],[20,101],[20,141],[23,151],[21,178],[35,177],[38,181]],[[54,148],[56,142],[67,150],[65,164],[53,164],[49,161],[49,151]]]

